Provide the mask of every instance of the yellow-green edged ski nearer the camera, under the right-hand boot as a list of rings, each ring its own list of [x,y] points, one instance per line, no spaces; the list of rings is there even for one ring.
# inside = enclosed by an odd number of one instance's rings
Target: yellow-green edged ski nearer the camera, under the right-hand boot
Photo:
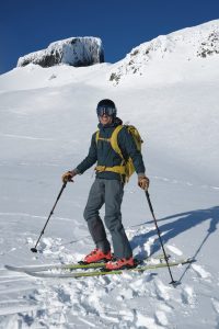
[[[194,262],[194,259],[181,259],[178,261],[173,261],[169,262],[170,266],[177,266],[177,265],[184,265],[187,263]],[[39,273],[39,272],[28,272],[26,271],[25,273],[35,277],[42,277],[42,279],[79,279],[79,277],[84,277],[84,276],[102,276],[102,275],[113,275],[113,274],[123,274],[123,273],[129,273],[129,272],[145,272],[149,270],[157,270],[160,268],[166,268],[166,263],[158,263],[158,264],[146,264],[146,265],[139,265],[137,268],[131,268],[131,269],[125,269],[125,270],[115,270],[115,271],[92,271],[92,272],[74,272],[74,273]]]

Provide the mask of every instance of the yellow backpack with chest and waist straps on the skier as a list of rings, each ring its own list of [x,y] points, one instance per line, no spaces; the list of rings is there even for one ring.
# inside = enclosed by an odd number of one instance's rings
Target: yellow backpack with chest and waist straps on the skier
[[[111,143],[111,146],[114,149],[114,151],[116,154],[118,154],[119,157],[122,158],[122,163],[119,166],[114,166],[114,167],[97,166],[95,168],[95,170],[97,172],[103,172],[103,171],[117,172],[120,175],[125,175],[126,177],[126,182],[128,182],[129,178],[135,172],[135,168],[134,168],[134,163],[132,163],[132,160],[131,160],[130,157],[128,158],[128,160],[124,159],[122,150],[120,150],[120,148],[118,146],[118,133],[123,129],[123,127],[126,127],[126,129],[128,131],[128,133],[131,134],[131,136],[132,136],[132,138],[134,138],[134,140],[136,143],[137,149],[139,151],[141,151],[141,144],[143,143],[143,140],[141,139],[140,134],[139,134],[138,129],[135,126],[131,126],[131,125],[119,125],[119,126],[117,126],[114,129],[111,138],[102,138],[102,137],[100,137],[100,131],[97,131],[96,132],[96,136],[95,136],[96,144],[97,144],[99,140],[105,140],[107,143]]]

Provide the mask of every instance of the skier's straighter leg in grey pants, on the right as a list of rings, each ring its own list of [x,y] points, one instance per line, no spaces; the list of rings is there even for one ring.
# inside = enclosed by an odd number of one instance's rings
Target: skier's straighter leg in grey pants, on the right
[[[108,228],[117,259],[132,257],[130,243],[122,224],[120,205],[124,184],[118,180],[105,180],[105,225]]]

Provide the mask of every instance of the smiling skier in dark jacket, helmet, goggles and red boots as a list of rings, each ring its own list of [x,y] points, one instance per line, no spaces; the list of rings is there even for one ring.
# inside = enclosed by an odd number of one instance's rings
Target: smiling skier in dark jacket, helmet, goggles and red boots
[[[112,100],[102,100],[96,107],[99,117],[99,137],[92,135],[91,146],[85,159],[76,169],[64,173],[64,182],[73,182],[73,177],[82,174],[97,162],[95,181],[91,186],[88,203],[84,209],[84,219],[95,243],[95,249],[84,259],[84,263],[106,262],[106,270],[118,270],[135,266],[130,243],[122,224],[120,205],[124,195],[125,172],[122,158],[112,148],[110,140],[113,132],[123,122],[116,116],[117,110]],[[124,126],[118,135],[117,143],[125,159],[131,158],[135,171],[138,174],[138,185],[148,190],[149,179],[145,174],[145,164],[141,152],[137,149],[132,136]],[[114,254],[106,237],[106,231],[99,211],[105,203],[105,226],[111,232]]]

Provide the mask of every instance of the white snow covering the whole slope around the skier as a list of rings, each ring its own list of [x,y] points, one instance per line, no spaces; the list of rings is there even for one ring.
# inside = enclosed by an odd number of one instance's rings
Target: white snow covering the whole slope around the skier
[[[178,42],[168,46],[171,59],[162,61],[158,47],[147,67],[139,64],[141,76],[123,73],[116,86],[108,78],[120,63],[28,65],[0,76],[0,328],[219,327],[219,57],[184,61],[182,56],[184,46],[194,54],[188,39],[198,45],[199,36],[217,26],[214,21],[175,32]],[[176,287],[169,284],[166,269],[78,280],[35,279],[4,269],[76,262],[93,248],[82,217],[94,179],[89,170],[67,185],[39,252],[30,251],[61,189],[61,174],[87,155],[97,124],[95,106],[104,98],[113,99],[124,122],[142,135],[149,193],[166,252],[172,260],[196,259],[172,269],[181,283]],[[161,253],[136,177],[125,188],[123,222],[135,254]]]

